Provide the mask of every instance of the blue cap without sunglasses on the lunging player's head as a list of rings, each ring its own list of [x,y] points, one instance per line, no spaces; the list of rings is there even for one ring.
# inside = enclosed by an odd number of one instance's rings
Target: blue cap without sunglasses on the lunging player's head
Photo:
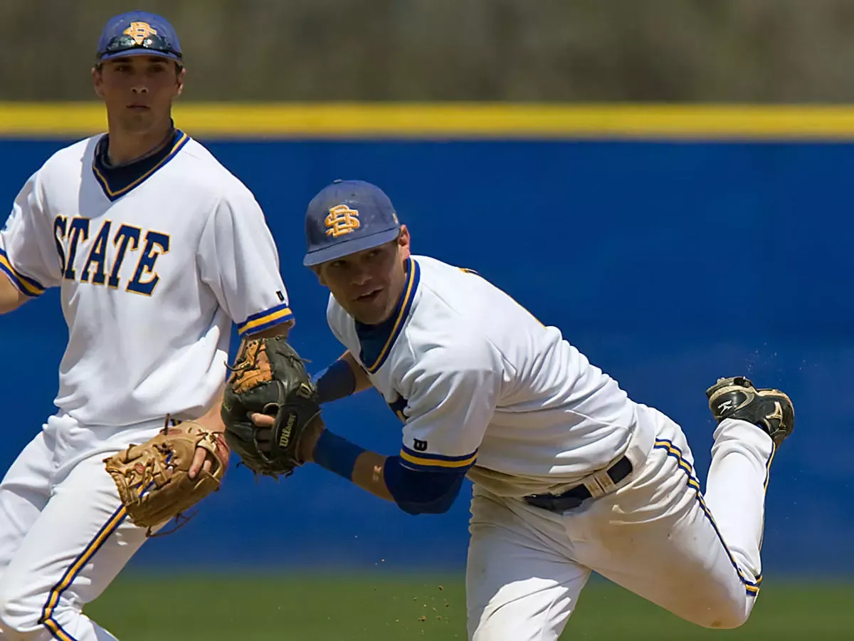
[[[308,203],[306,267],[390,243],[401,232],[395,208],[377,185],[336,180]]]

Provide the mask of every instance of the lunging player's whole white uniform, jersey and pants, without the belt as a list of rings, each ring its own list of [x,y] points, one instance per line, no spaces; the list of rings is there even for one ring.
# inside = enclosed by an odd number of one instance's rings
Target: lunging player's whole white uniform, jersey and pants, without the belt
[[[476,274],[423,256],[407,267],[389,321],[360,325],[331,298],[327,315],[405,421],[401,461],[475,482],[468,638],[557,641],[591,570],[701,626],[743,623],[762,580],[768,435],[723,420],[704,498],[680,427],[556,328]],[[632,474],[578,509],[519,500],[623,455]]]

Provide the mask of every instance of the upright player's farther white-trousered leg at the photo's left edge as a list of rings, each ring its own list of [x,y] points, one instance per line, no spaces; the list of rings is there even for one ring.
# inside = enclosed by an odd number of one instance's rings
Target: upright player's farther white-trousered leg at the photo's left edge
[[[38,432],[0,481],[0,578],[50,498],[53,456]]]

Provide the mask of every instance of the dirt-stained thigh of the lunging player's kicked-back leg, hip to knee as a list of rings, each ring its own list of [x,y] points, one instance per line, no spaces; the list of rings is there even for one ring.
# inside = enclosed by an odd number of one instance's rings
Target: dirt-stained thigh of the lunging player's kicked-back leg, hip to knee
[[[629,485],[564,517],[576,558],[652,603],[704,627],[729,628],[752,608],[716,526],[704,509],[681,430],[658,432]]]

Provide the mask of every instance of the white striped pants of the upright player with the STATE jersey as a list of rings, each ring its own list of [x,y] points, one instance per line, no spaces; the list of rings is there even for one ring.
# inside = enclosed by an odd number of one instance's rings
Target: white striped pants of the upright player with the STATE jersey
[[[84,426],[51,416],[0,483],[0,639],[107,641],[83,614],[145,541],[102,459],[162,424]]]

